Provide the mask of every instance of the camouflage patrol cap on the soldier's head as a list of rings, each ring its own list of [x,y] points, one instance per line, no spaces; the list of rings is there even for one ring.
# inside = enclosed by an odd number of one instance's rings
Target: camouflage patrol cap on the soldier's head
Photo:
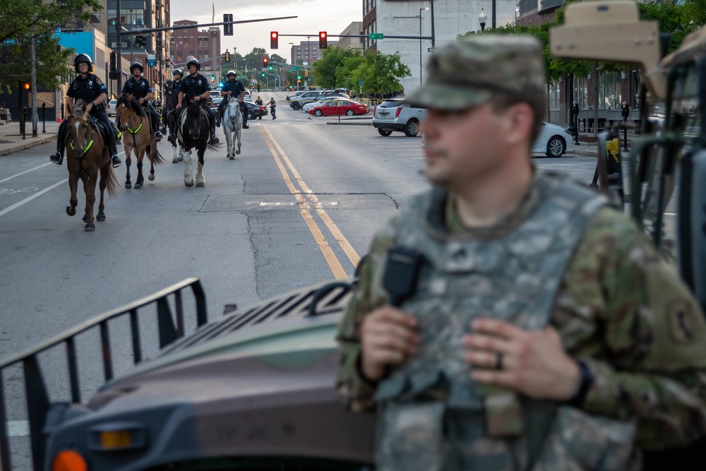
[[[474,35],[437,49],[426,85],[405,101],[435,109],[465,109],[498,93],[544,93],[542,46],[530,36]]]

